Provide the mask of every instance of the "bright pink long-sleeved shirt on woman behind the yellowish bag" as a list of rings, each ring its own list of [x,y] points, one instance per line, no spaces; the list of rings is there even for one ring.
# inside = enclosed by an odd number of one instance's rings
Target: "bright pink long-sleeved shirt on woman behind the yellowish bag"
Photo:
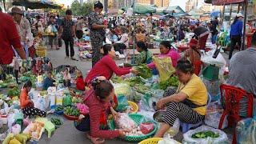
[[[170,57],[173,66],[176,67],[178,59],[181,58],[181,55],[178,54],[178,52],[175,50],[169,50],[169,52],[167,54],[160,54],[158,57],[159,58]],[[149,66],[150,69],[155,68],[154,62],[151,62],[147,66]]]

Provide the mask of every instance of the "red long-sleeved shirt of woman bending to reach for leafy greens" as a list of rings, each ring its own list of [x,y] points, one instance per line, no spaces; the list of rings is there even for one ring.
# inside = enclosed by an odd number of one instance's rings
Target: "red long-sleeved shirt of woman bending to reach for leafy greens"
[[[88,84],[98,76],[104,76],[107,80],[109,80],[113,73],[117,74],[118,76],[129,74],[130,67],[120,68],[114,62],[113,58],[110,57],[110,55],[106,55],[100,59],[90,70],[89,74],[86,76],[85,82]]]

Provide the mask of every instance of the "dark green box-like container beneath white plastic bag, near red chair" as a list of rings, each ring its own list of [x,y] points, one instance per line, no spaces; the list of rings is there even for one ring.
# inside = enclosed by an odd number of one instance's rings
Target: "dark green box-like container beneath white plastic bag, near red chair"
[[[214,81],[218,79],[219,67],[215,65],[206,66],[204,70],[202,70],[203,78],[206,78],[209,81]]]

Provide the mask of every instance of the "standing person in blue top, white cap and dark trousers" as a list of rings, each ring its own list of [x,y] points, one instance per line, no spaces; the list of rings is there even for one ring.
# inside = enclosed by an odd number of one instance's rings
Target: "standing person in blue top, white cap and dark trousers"
[[[232,53],[234,51],[234,47],[238,43],[239,49],[242,46],[242,14],[237,14],[236,17],[234,18],[234,22],[231,25],[231,30],[230,30],[230,54],[229,54],[229,59],[232,57]]]

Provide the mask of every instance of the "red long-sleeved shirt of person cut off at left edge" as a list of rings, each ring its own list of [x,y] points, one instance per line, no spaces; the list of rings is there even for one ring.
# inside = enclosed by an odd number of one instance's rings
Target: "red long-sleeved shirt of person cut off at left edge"
[[[13,61],[14,50],[22,49],[22,44],[13,18],[0,12],[0,64],[10,64]]]

